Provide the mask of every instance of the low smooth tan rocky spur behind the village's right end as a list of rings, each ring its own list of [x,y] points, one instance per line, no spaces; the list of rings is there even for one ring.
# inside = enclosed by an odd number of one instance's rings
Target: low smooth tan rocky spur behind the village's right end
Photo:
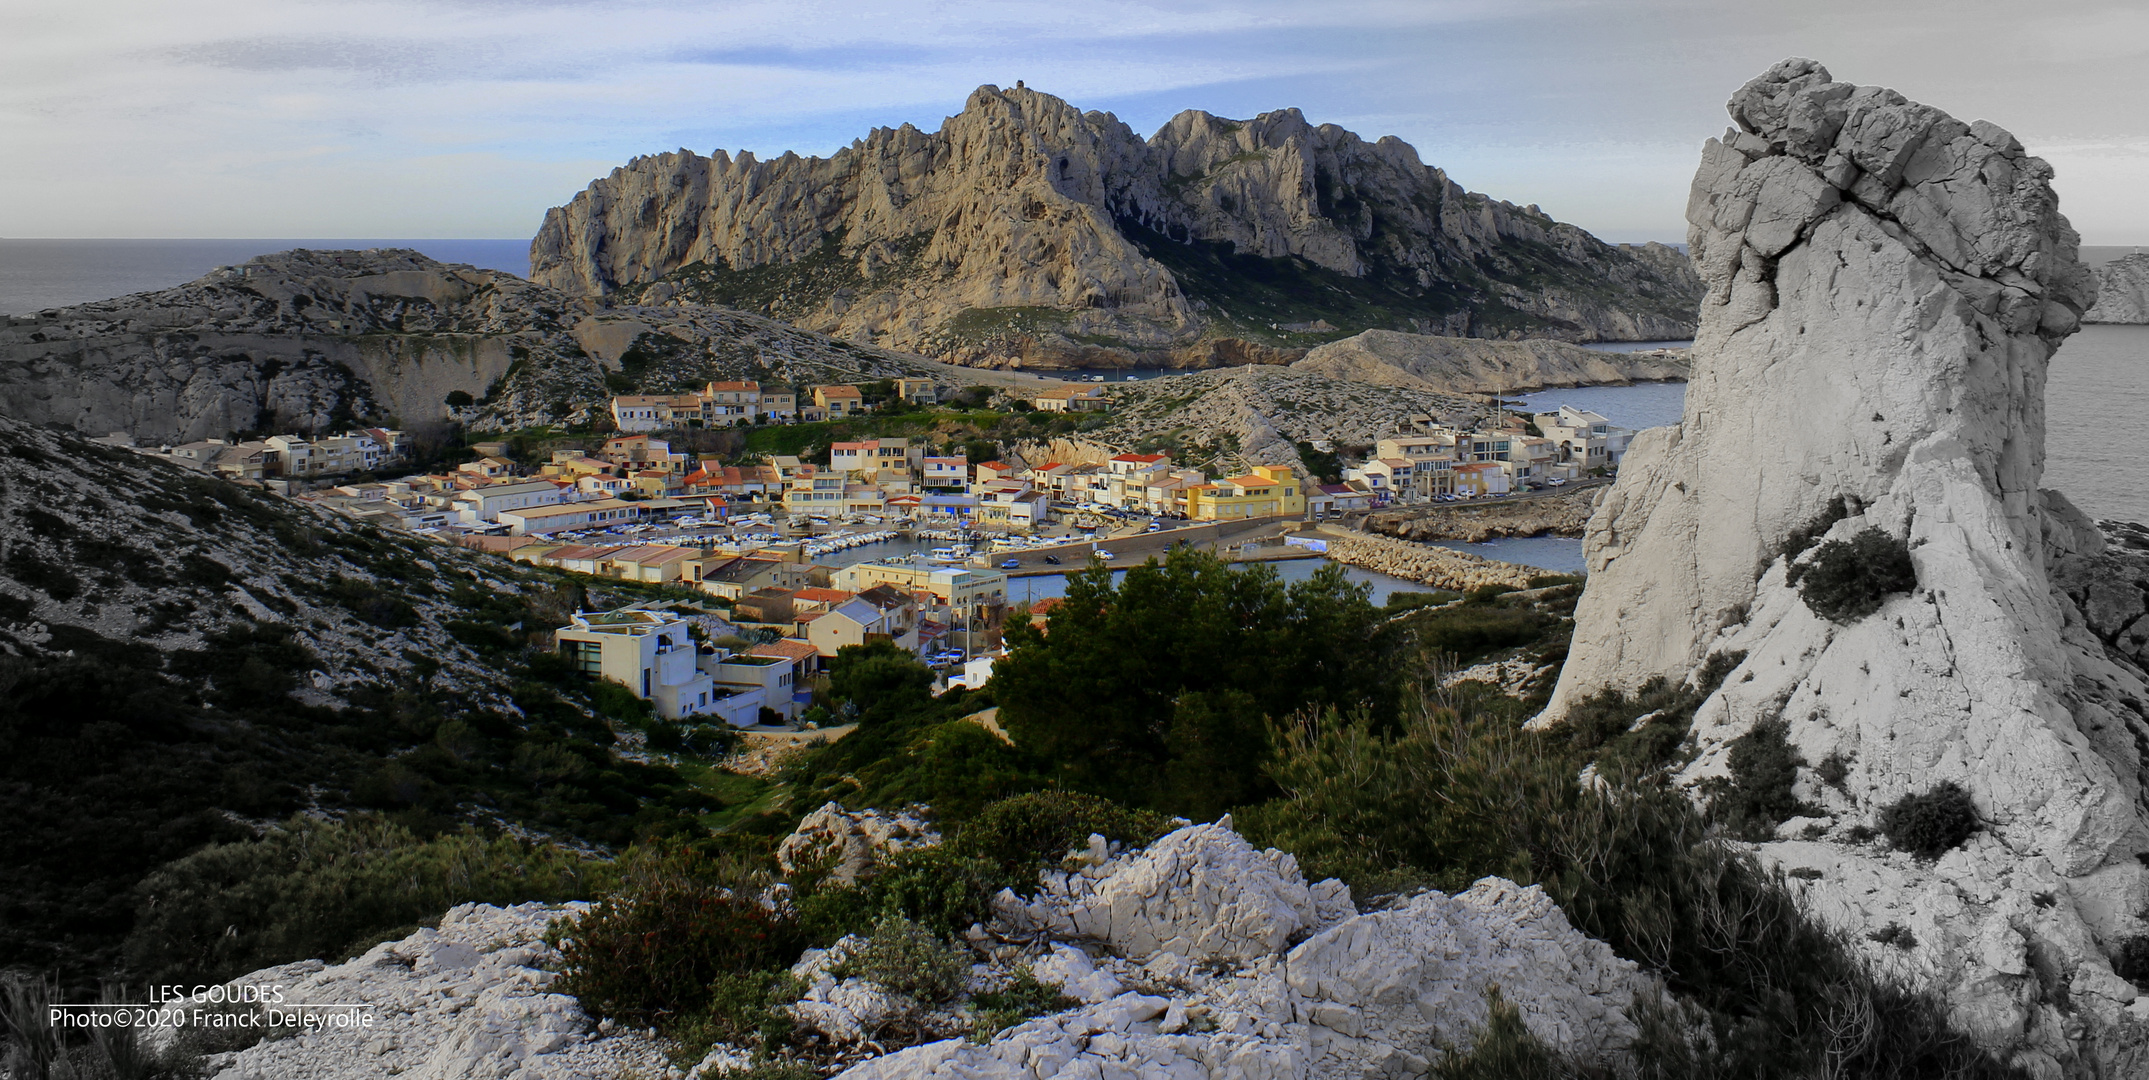
[[[1678,352],[1595,352],[1567,341],[1476,341],[1365,331],[1294,363],[1300,371],[1436,393],[1521,393],[1687,378]]]

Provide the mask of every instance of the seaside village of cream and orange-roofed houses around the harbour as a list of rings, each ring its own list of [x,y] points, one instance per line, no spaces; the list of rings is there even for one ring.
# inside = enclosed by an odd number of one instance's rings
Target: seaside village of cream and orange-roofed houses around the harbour
[[[896,399],[937,399],[931,380],[890,382]],[[1062,384],[1025,404],[1092,412],[1109,408],[1109,397],[1105,386]],[[133,449],[518,563],[673,586],[692,601],[576,614],[557,627],[561,655],[632,689],[664,719],[750,728],[795,726],[812,702],[814,676],[853,644],[892,642],[948,687],[982,685],[1006,621],[1042,618],[1057,603],[1014,603],[1012,578],[1092,560],[1130,565],[1173,548],[1309,556],[1328,548],[1283,537],[1285,528],[1601,477],[1633,436],[1564,406],[1500,412],[1474,429],[1418,417],[1362,459],[1335,457],[1332,483],[1304,459],[1244,462],[1210,477],[1167,453],[978,462],[935,453],[924,440],[866,438],[832,442],[825,462],[756,455],[724,464],[664,438],[870,410],[851,384],[709,382],[692,395],[619,395],[610,402],[615,432],[587,447],[518,462],[509,442],[479,440],[468,447],[475,459],[451,470],[385,481],[346,479],[402,459],[402,432],[380,427]],[[946,545],[834,558],[894,539]],[[1255,554],[1261,543],[1298,548],[1264,556]]]

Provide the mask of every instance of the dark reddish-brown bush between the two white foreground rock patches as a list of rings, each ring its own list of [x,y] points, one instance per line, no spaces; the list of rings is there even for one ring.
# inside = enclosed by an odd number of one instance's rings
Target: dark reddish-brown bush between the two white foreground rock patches
[[[735,857],[662,844],[630,850],[619,872],[617,891],[554,928],[559,990],[593,1016],[649,1024],[692,1013],[716,977],[789,964],[804,947],[761,904],[767,878]]]

